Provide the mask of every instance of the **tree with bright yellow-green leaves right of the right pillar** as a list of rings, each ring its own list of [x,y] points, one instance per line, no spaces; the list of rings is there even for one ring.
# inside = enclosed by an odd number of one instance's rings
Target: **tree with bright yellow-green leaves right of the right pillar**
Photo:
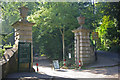
[[[112,47],[114,47],[113,50],[116,50],[116,52],[120,49],[120,47],[118,47],[120,45],[120,25],[118,16],[120,10],[119,5],[119,2],[105,2],[97,4],[97,9],[99,10],[99,13],[102,14],[101,17],[103,17],[99,21],[101,25],[99,25],[96,29],[100,36],[100,41],[98,42],[101,42],[101,44],[98,44],[99,49],[110,50]]]

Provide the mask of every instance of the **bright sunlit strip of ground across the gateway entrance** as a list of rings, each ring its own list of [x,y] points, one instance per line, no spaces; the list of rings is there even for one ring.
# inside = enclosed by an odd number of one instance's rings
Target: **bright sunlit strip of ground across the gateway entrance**
[[[34,65],[37,71],[37,67]],[[118,67],[94,68],[88,70],[56,69],[39,66],[39,73],[64,78],[118,78]]]

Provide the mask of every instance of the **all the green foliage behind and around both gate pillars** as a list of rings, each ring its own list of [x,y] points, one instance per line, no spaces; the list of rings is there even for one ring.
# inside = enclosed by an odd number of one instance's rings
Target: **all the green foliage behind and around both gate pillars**
[[[45,53],[49,58],[62,59],[60,30],[65,30],[67,47],[74,39],[71,30],[79,27],[76,18],[80,14],[86,17],[84,27],[99,32],[97,49],[114,49],[115,45],[120,46],[120,32],[117,32],[120,25],[119,5],[120,2],[96,3],[95,14],[93,14],[93,5],[89,2],[1,2],[2,33],[12,31],[11,24],[20,19],[18,8],[27,6],[29,8],[27,20],[36,23],[33,26],[34,53]]]

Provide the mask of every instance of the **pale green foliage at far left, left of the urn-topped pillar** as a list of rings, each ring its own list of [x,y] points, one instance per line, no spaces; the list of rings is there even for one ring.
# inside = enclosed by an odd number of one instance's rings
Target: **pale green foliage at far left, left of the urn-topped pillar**
[[[6,3],[1,2],[0,7],[2,9],[2,22],[0,28],[2,29],[1,33],[11,33],[13,31],[13,28],[11,24],[13,24],[16,20],[18,20],[19,11],[17,9],[18,5],[17,3]],[[10,38],[11,37],[11,38]],[[2,36],[3,44],[9,43],[9,41],[13,44],[13,33]]]

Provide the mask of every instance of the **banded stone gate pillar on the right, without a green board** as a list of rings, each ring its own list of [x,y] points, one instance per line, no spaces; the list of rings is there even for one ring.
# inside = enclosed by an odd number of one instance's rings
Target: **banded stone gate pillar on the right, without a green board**
[[[78,17],[82,19],[82,17]],[[82,26],[83,21],[79,21],[81,26],[76,30],[72,30],[75,37],[75,63],[78,65],[79,60],[82,62],[83,66],[88,65],[95,60],[93,48],[90,45],[90,30]]]

